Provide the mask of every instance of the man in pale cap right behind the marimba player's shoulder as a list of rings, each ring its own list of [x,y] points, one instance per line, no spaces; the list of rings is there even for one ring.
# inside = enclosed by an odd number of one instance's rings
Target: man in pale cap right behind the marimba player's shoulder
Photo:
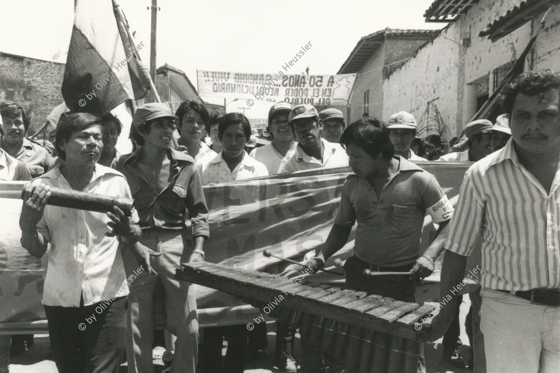
[[[400,155],[408,160],[426,160],[414,154],[410,150],[410,145],[416,137],[416,119],[406,111],[399,111],[391,115],[387,128],[389,129],[389,139],[395,148],[395,155]]]

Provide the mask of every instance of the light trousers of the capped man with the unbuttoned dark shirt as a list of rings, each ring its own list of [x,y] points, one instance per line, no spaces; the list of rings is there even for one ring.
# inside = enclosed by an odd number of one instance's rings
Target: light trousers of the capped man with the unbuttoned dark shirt
[[[171,373],[194,373],[198,360],[196,296],[191,284],[175,278],[180,263],[188,262],[192,241],[186,238],[185,231],[151,229],[142,232],[140,243],[162,254],[150,258],[150,265],[158,276],[142,271],[130,282],[126,341],[128,372],[153,373],[153,289],[158,285],[164,292],[166,330],[177,337]],[[130,278],[139,265],[128,249],[123,251],[123,262],[127,278]]]

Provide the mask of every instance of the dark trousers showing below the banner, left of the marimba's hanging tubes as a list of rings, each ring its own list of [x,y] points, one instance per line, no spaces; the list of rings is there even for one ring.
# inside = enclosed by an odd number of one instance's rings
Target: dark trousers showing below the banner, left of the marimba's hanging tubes
[[[202,373],[243,373],[245,370],[245,347],[247,324],[203,329]],[[222,364],[222,341],[227,338],[226,357]]]

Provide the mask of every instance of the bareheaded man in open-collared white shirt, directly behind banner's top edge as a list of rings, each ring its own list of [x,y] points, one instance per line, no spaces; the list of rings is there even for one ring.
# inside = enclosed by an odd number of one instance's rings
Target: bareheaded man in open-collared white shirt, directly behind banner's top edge
[[[245,115],[234,112],[223,116],[218,136],[223,150],[214,159],[198,164],[202,185],[268,176],[267,167],[245,152],[251,136],[251,125]]]

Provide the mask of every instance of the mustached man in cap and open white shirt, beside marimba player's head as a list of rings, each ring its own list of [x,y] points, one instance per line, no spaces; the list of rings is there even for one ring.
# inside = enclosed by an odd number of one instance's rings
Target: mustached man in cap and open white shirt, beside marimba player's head
[[[321,138],[323,121],[314,106],[304,103],[294,107],[288,125],[298,145],[291,158],[282,160],[278,173],[348,166],[348,155],[340,144]]]

